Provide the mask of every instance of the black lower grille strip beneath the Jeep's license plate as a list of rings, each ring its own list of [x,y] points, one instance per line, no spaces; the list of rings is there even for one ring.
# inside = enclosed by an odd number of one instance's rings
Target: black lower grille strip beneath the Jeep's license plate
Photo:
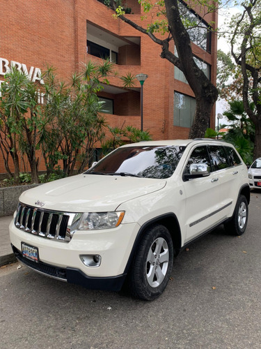
[[[36,272],[40,272],[41,274],[45,274],[47,276],[50,276],[54,279],[60,279],[63,281],[67,281],[66,277],[66,269],[54,267],[53,265],[48,265],[46,263],[42,262],[33,262],[33,260],[29,260],[22,256],[22,253],[13,247],[13,252],[15,253],[15,257],[17,260],[22,262],[24,265],[27,265],[27,267],[34,269]]]

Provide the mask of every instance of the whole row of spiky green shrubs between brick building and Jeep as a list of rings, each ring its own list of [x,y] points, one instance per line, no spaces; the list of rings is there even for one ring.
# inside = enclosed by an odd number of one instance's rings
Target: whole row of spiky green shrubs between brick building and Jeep
[[[112,139],[104,141],[107,123],[97,92],[104,89],[103,84],[109,84],[110,75],[117,75],[113,67],[110,61],[89,61],[65,83],[58,80],[55,68],[47,66],[41,87],[15,68],[6,74],[6,82],[1,85],[0,148],[6,154],[9,181],[37,183],[83,172],[93,161],[97,142],[111,149],[122,144],[122,138],[124,142],[149,138],[148,133],[136,128],[122,131],[109,127]],[[120,79],[126,89],[134,86],[131,73]],[[45,96],[43,105],[38,103],[38,89]],[[47,173],[38,178],[40,153]],[[31,176],[19,174],[21,155],[29,161]],[[16,165],[15,176],[8,168],[10,156]]]

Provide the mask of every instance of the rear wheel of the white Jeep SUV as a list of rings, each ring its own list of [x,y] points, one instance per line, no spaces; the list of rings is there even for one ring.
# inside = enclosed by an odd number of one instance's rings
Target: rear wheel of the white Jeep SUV
[[[226,232],[231,235],[242,235],[248,222],[248,202],[244,195],[239,195],[231,221],[225,224]]]

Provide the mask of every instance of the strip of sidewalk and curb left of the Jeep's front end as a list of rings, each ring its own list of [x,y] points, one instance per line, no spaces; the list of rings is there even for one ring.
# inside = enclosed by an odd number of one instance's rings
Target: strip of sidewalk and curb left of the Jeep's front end
[[[13,216],[0,217],[0,267],[17,260],[13,254],[9,239],[8,226],[12,218]]]

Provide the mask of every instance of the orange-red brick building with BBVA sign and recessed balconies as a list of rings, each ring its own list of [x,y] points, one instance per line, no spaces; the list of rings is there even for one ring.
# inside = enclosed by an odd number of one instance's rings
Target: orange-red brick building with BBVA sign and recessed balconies
[[[125,7],[130,12],[127,16],[134,22],[141,21],[137,0],[127,0]],[[37,81],[47,64],[56,67],[58,76],[66,79],[81,62],[110,57],[119,75],[148,75],[143,85],[143,129],[149,130],[154,140],[187,138],[195,99],[184,75],[160,58],[159,45],[112,14],[97,0],[2,0],[0,84],[11,61]],[[217,14],[209,14],[205,20],[216,22]],[[203,28],[200,40],[195,36],[192,43],[197,63],[212,82],[216,80],[216,40]],[[100,93],[109,124],[122,126],[125,122],[140,128],[139,82],[129,91],[122,89],[117,77],[110,82]],[[210,126],[214,127],[214,110]],[[0,154],[0,173],[3,172]]]

